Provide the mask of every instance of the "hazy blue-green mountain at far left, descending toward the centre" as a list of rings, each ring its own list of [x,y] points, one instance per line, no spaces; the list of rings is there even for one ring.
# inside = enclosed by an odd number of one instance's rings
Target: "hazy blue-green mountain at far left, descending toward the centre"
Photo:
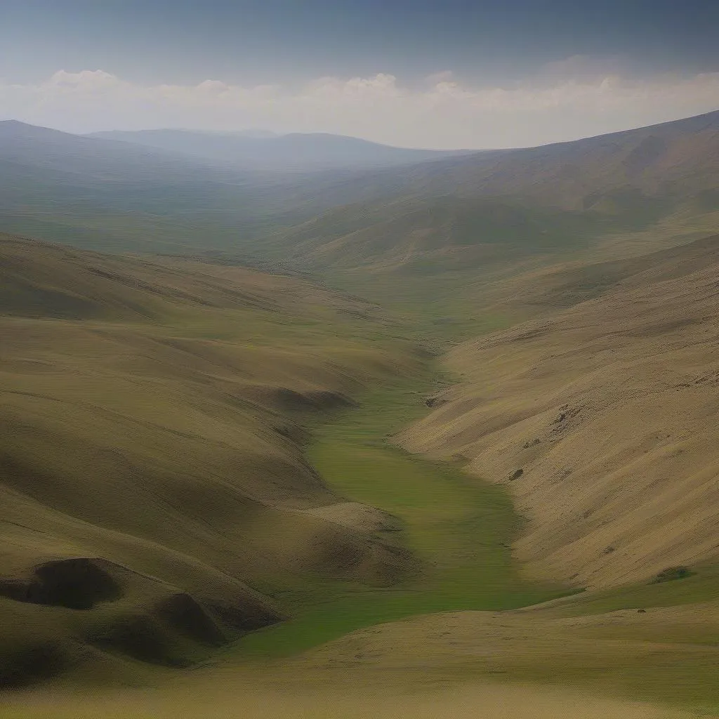
[[[221,168],[127,142],[0,122],[0,226],[94,249],[237,247],[352,201],[334,174]],[[377,196],[371,190],[370,196]]]

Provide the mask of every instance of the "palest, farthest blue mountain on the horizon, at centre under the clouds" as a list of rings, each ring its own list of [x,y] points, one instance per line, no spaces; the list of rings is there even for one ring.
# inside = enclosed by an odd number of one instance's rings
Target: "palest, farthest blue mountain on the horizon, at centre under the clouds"
[[[96,132],[91,137],[182,152],[244,170],[298,171],[382,168],[457,155],[438,150],[408,150],[357,137],[327,133],[265,135],[157,129]]]

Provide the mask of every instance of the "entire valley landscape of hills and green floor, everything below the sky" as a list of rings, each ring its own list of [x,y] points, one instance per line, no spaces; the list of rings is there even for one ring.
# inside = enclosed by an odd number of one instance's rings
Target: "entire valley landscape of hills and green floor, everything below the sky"
[[[0,123],[4,715],[717,715],[718,122]]]

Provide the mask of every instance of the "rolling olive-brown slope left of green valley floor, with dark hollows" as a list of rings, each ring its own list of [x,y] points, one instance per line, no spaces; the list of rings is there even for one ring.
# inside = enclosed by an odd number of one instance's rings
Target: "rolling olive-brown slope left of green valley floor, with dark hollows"
[[[2,682],[186,664],[280,617],[250,585],[403,571],[313,511],[341,498],[301,447],[309,413],[418,367],[375,308],[7,236],[0,260]]]

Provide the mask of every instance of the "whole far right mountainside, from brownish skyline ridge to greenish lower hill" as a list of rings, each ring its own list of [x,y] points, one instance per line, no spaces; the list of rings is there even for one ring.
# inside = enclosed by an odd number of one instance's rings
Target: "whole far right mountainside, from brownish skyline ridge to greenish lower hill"
[[[719,112],[352,180],[385,188],[277,234],[263,251],[323,270],[437,273],[576,252],[719,211]]]

